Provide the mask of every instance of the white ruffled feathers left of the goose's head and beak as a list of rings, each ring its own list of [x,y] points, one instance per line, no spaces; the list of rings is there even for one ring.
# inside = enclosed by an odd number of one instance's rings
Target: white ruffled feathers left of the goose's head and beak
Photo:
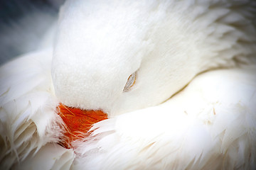
[[[50,54],[51,50],[33,52],[1,67],[1,169],[9,169],[62,135]]]

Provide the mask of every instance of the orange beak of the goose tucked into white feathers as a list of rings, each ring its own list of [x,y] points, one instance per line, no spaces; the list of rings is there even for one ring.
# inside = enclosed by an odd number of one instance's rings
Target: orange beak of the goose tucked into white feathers
[[[60,145],[70,149],[74,140],[80,140],[90,135],[90,128],[93,124],[107,119],[107,114],[103,111],[85,111],[80,108],[71,108],[59,104],[57,107],[58,115],[65,123],[65,136]]]

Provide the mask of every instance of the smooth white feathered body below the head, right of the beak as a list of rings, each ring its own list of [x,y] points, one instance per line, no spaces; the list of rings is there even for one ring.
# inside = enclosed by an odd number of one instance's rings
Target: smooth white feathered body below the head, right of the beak
[[[255,169],[255,72],[204,73],[166,103],[95,124],[77,168]]]

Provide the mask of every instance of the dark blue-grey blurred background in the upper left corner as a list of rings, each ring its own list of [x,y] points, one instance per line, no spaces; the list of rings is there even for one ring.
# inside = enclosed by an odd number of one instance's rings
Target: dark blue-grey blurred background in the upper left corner
[[[0,65],[36,50],[65,0],[0,0]]]

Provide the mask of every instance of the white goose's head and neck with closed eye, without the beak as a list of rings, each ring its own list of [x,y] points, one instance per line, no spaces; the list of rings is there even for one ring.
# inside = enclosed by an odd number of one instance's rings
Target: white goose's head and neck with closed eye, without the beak
[[[212,15],[206,19],[199,7],[183,1],[67,1],[55,38],[55,95],[65,106],[119,115],[166,101],[200,72],[232,65],[235,54],[227,51],[235,40],[223,34],[233,28],[213,24],[228,10],[201,7]]]

